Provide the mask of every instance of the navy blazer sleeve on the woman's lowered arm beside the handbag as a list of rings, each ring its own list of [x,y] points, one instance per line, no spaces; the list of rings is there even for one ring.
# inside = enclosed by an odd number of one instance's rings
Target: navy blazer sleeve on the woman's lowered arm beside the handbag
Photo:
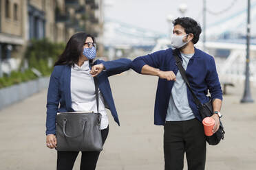
[[[56,134],[56,114],[61,98],[59,92],[60,76],[58,76],[58,74],[58,66],[54,66],[54,71],[52,71],[52,75],[50,76],[50,83],[47,92],[46,134]]]

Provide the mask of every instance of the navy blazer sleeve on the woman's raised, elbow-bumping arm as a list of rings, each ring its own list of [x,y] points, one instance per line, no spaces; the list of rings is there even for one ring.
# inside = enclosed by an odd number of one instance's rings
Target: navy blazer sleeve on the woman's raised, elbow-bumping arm
[[[107,76],[120,74],[124,71],[127,71],[131,68],[131,60],[127,58],[120,58],[113,61],[101,61],[105,66]]]

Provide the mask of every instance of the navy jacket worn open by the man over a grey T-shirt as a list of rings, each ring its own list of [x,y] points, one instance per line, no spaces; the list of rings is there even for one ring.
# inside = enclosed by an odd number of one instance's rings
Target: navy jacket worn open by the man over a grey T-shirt
[[[154,68],[160,69],[161,71],[173,71],[173,73],[177,75],[178,66],[175,58],[173,57],[173,52],[176,52],[180,57],[180,60],[182,60],[180,51],[177,49],[173,51],[171,48],[169,48],[134,59],[131,64],[131,68],[137,73],[141,73],[142,67],[147,64]],[[195,53],[189,60],[189,64],[186,68],[186,77],[189,80],[189,84],[191,85],[193,92],[195,95],[197,95],[202,104],[205,104],[210,100],[210,98],[207,96],[208,90],[211,93],[212,99],[222,100],[222,88],[220,86],[213,56],[210,56],[208,53],[204,53],[204,51],[195,48]],[[165,123],[173,84],[174,81],[168,81],[160,78],[158,79],[154,114],[155,125],[164,125]],[[186,87],[186,91],[189,106],[193,111],[195,118],[202,121],[198,107],[196,106],[191,91],[188,87]]]

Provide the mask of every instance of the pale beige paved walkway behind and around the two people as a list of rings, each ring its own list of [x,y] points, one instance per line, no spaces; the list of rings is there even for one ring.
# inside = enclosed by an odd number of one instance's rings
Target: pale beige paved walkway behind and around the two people
[[[121,126],[109,115],[109,136],[96,169],[164,169],[163,128],[153,125],[157,78],[129,71],[109,80]],[[240,104],[243,87],[236,84],[224,96],[226,136],[220,145],[208,146],[207,170],[256,167],[256,88],[252,86],[255,103]],[[45,147],[46,93],[0,110],[0,169],[56,169],[56,151]]]

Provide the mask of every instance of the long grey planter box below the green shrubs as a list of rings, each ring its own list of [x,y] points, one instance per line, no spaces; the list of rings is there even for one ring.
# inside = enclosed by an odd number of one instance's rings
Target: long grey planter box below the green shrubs
[[[30,97],[34,93],[48,87],[50,77],[41,77],[30,82],[23,82],[10,87],[0,89],[0,110],[6,106]]]

